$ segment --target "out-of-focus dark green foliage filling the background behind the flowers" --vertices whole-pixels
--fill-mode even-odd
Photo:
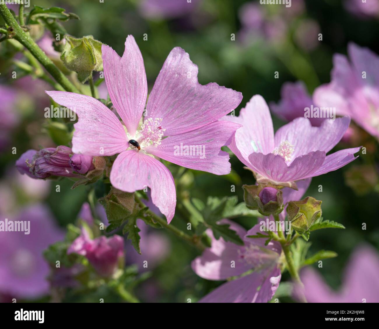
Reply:
[[[246,32],[241,17],[247,12],[244,7],[247,2],[243,0],[193,0],[193,9],[170,17],[148,17],[143,2],[136,0],[105,0],[104,3],[94,0],[54,3],[34,0],[31,5],[45,8],[54,5],[65,8],[67,12],[74,12],[80,20],[63,23],[69,34],[76,37],[93,35],[95,39],[113,47],[119,55],[124,51],[126,36],[133,34],[144,58],[149,91],[169,51],[176,46],[184,48],[191,60],[199,66],[201,84],[216,82],[242,92],[243,100],[236,110],[237,115],[239,109],[255,94],[262,95],[268,103],[278,101],[280,88],[286,81],[302,80],[310,93],[319,84],[329,82],[333,54],[346,54],[350,41],[379,52],[377,19],[360,19],[352,15],[340,0],[307,0],[301,2],[304,4],[302,10],[288,14],[296,8],[296,2],[293,0],[292,8],[288,9],[283,6],[261,5],[261,14],[274,31],[271,34],[257,33],[258,35]],[[259,4],[259,1],[255,3]],[[277,25],[277,22],[282,24]],[[311,31],[307,30],[309,22],[313,28]],[[147,41],[143,39],[145,33]],[[318,33],[322,33],[322,41],[317,40]],[[232,34],[235,35],[235,41],[231,40]],[[316,38],[316,42],[307,43],[312,38]],[[11,168],[18,156],[11,153],[11,148],[16,147],[19,155],[30,148],[38,149],[55,144],[43,129],[41,131],[44,123],[43,109],[50,102],[43,93],[44,88],[36,91],[32,80],[25,86],[17,86],[16,81],[11,79],[13,69],[8,66],[2,45],[0,55],[0,82],[20,91],[15,110],[20,112],[22,119],[12,132],[10,144],[2,150],[0,161],[2,193],[11,193],[12,201],[7,207],[11,206],[17,211],[25,204],[34,202],[34,198],[33,193],[25,195],[17,187],[17,174]],[[275,71],[279,72],[278,79],[274,78]],[[33,92],[28,87],[33,87]],[[273,121],[275,129],[284,124],[274,115]],[[367,145],[363,146],[368,149],[366,156],[360,156],[336,172],[313,178],[306,193],[323,201],[325,219],[337,221],[346,227],[345,230],[313,232],[310,239],[311,253],[319,249],[338,253],[337,258],[324,260],[323,269],[319,271],[333,288],[339,287],[346,260],[356,246],[370,243],[379,249],[378,194],[369,190],[368,193],[357,195],[346,185],[344,176],[346,171],[358,164],[377,163],[377,142],[371,137],[365,141]],[[355,146],[359,145],[351,147]],[[337,149],[338,147],[337,145]],[[243,164],[235,156],[231,157],[231,163],[232,173],[227,176],[193,170],[180,172],[182,176],[176,181],[177,214],[184,220],[176,216],[173,225],[185,229],[188,211],[183,207],[182,201],[188,198],[206,200],[208,196],[237,195],[239,201],[243,201],[241,186],[254,184],[254,177],[250,171],[243,169]],[[179,167],[173,164],[168,166],[175,177]],[[60,193],[55,192],[54,183],[50,184],[50,193],[45,194],[45,202],[59,225],[64,227],[68,223],[74,223],[91,186],[70,190],[72,182],[68,179],[61,180],[59,184]],[[231,192],[231,185],[235,185],[235,192]],[[319,192],[320,185],[322,192]],[[251,218],[237,218],[236,221],[246,228],[255,224]],[[366,230],[362,230],[362,223],[366,223]],[[137,288],[136,295],[141,301],[186,302],[187,298],[191,298],[194,302],[219,285],[220,282],[199,278],[191,270],[190,263],[197,256],[196,249],[171,233],[164,234],[170,239],[171,251],[153,270],[151,278]],[[289,279],[287,275],[284,278]],[[96,292],[96,295],[104,294],[102,290]],[[78,297],[70,294],[66,297],[67,301],[90,301],[91,298],[91,295]],[[116,295],[110,295],[109,298],[119,300]],[[283,298],[283,301],[290,300]]]

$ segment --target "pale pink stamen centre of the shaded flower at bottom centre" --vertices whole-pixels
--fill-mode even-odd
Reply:
[[[238,250],[240,259],[253,268],[271,266],[279,257],[275,251],[254,244],[244,246]]]

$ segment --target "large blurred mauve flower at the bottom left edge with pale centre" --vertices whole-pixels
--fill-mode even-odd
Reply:
[[[8,218],[2,214],[1,220]],[[49,265],[42,252],[64,237],[42,204],[23,209],[16,221],[30,221],[29,234],[0,231],[0,291],[15,298],[37,298],[49,291]]]

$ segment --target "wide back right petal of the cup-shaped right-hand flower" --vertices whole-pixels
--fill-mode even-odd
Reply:
[[[342,117],[334,121],[324,120],[321,126],[312,127],[308,119],[297,118],[277,130],[275,146],[288,141],[294,148],[292,159],[312,151],[327,153],[341,140],[349,124],[350,118]]]

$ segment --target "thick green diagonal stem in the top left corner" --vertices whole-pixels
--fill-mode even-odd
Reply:
[[[8,24],[13,28],[15,33],[14,39],[20,42],[27,48],[31,54],[42,64],[42,66],[49,72],[53,78],[67,91],[79,92],[79,90],[66,78],[58,67],[48,58],[41,48],[34,42],[28,33],[25,33],[5,4],[0,5],[0,14]]]

